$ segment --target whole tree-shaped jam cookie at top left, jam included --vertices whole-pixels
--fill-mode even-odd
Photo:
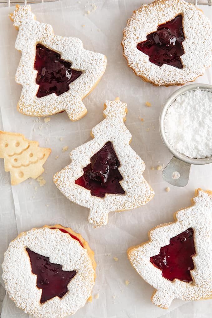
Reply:
[[[51,25],[36,21],[30,5],[17,5],[10,18],[22,53],[15,77],[23,86],[18,111],[46,116],[65,110],[72,121],[83,117],[82,99],[105,72],[106,57],[85,50],[79,38],[54,35]]]

